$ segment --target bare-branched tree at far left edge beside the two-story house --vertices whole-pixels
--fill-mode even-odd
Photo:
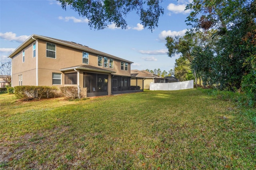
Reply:
[[[2,75],[2,79],[6,82],[9,86],[12,82],[12,61],[6,61],[5,63],[0,64],[0,75]]]

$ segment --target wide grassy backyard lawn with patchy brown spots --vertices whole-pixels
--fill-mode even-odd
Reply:
[[[0,169],[253,170],[256,126],[245,113],[202,89],[80,101],[2,94]]]

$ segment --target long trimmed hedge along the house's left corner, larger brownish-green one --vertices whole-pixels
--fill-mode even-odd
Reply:
[[[19,99],[46,99],[55,97],[57,87],[50,86],[15,86],[14,94]]]

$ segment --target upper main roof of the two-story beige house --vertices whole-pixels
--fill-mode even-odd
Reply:
[[[66,46],[73,47],[73,48],[76,48],[76,49],[80,49],[80,50],[83,50],[83,51],[95,53],[95,54],[98,54],[98,55],[103,55],[105,57],[110,57],[110,58],[113,58],[113,59],[118,59],[118,60],[121,60],[121,61],[125,61],[127,63],[133,63],[132,61],[122,59],[120,57],[116,57],[114,55],[110,55],[108,53],[98,51],[96,49],[89,48],[88,46],[85,46],[85,45],[82,45],[82,44],[79,44],[79,43],[68,42],[68,41],[59,40],[59,39],[50,38],[50,37],[45,37],[45,36],[39,36],[39,35],[36,35],[36,34],[33,34],[32,36],[30,36],[25,42],[23,42],[20,46],[18,46],[12,53],[10,53],[10,55],[8,55],[8,57],[9,58],[14,57],[17,53],[19,53],[21,50],[23,50],[24,47],[28,46],[30,43],[34,42],[37,39],[46,40],[46,41],[49,41],[49,42],[66,45]]]

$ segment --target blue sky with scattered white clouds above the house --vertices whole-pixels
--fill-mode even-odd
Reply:
[[[164,0],[164,15],[153,32],[140,24],[135,13],[127,16],[128,28],[110,24],[104,30],[90,29],[87,18],[55,0],[0,0],[0,62],[32,34],[72,41],[134,62],[131,69],[174,68],[175,57],[168,57],[164,38],[183,36],[184,11],[191,0]]]

